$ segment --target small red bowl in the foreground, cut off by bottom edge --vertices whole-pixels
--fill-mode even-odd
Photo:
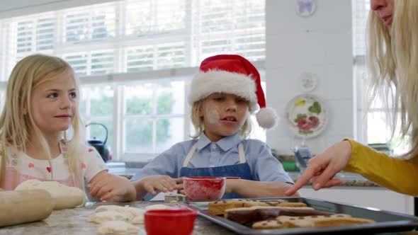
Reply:
[[[187,209],[147,210],[144,214],[147,235],[190,235],[198,212]]]

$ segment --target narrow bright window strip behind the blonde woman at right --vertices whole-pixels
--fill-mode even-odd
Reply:
[[[400,127],[395,128],[395,136],[390,141],[390,123],[386,118],[386,108],[377,99],[368,107],[366,93],[368,72],[365,65],[366,54],[366,22],[370,10],[370,0],[353,0],[353,52],[354,52],[354,80],[358,93],[358,139],[366,144],[388,143],[394,154],[400,155],[409,148],[407,141],[400,139]]]

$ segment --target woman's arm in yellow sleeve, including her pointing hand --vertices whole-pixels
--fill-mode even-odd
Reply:
[[[286,195],[312,180],[312,188],[341,184],[334,178],[339,171],[359,173],[368,180],[398,193],[417,196],[418,163],[390,157],[351,139],[337,142],[308,161],[308,167]]]

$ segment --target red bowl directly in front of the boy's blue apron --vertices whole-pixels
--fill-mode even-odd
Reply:
[[[190,201],[219,200],[225,193],[225,177],[185,177],[184,194]]]

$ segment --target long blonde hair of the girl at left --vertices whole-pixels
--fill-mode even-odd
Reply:
[[[23,58],[11,72],[7,82],[6,103],[0,116],[0,139],[1,139],[1,168],[0,183],[6,180],[4,172],[6,168],[6,147],[10,146],[16,151],[26,151],[30,135],[40,139],[43,149],[47,153],[47,159],[51,167],[50,146],[47,144],[42,132],[35,125],[33,114],[30,111],[30,96],[33,89],[39,84],[54,79],[60,74],[69,73],[74,79],[77,90],[77,104],[79,103],[79,81],[74,76],[72,67],[63,59],[47,55],[30,55]],[[24,111],[26,110],[26,114]],[[69,173],[77,187],[84,190],[84,179],[79,164],[79,149],[84,125],[77,112],[72,121],[73,137],[67,139],[67,131],[60,133],[62,141],[67,145],[67,156],[64,158]],[[32,136],[31,136],[32,137]],[[60,139],[57,139],[57,142]],[[52,177],[52,176],[51,176]]]

